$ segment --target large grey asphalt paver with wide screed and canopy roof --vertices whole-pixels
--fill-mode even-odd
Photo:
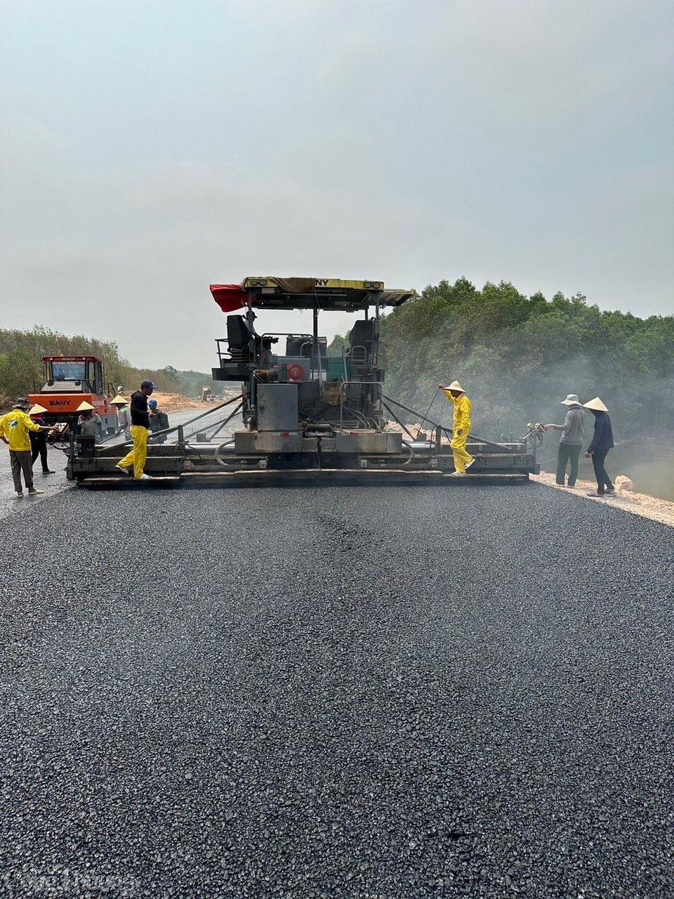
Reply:
[[[213,378],[236,384],[235,396],[165,432],[166,442],[151,435],[145,470],[155,482],[447,482],[454,471],[451,429],[426,421],[423,432],[413,433],[405,421],[420,422],[421,414],[384,391],[380,317],[412,291],[387,290],[375,280],[270,277],[210,290],[226,313]],[[310,312],[311,332],[258,329],[258,317],[269,310]],[[339,352],[329,353],[320,334],[326,311],[356,316]],[[83,456],[74,444],[68,476],[92,486],[129,481],[114,469],[127,449],[103,444]],[[475,458],[470,473],[451,480],[511,482],[538,470],[527,441],[472,434],[467,449]]]

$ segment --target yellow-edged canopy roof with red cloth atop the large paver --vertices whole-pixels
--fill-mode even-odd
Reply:
[[[337,278],[245,278],[241,284],[211,284],[210,292],[223,312],[255,309],[324,309],[357,311],[379,304],[401,306],[412,290],[386,290],[380,280]]]

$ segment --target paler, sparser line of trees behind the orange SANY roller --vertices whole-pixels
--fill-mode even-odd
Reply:
[[[200,371],[179,371],[171,365],[164,369],[137,369],[120,355],[114,341],[84,334],[60,334],[40,326],[31,331],[0,328],[0,409],[6,409],[14,397],[32,393],[33,385],[41,386],[42,357],[60,353],[102,359],[106,382],[113,389],[121,384],[129,392],[144,378],[155,381],[161,390],[185,396],[199,396],[206,386],[214,393],[217,389],[210,375]]]

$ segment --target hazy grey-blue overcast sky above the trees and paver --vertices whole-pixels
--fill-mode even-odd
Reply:
[[[674,312],[670,0],[0,10],[4,327],[208,370],[254,274]]]

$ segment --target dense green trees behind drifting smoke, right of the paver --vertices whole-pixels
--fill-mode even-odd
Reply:
[[[581,294],[547,300],[460,278],[384,316],[381,335],[386,395],[425,413],[438,384],[457,378],[485,437],[561,423],[570,393],[581,402],[601,396],[621,437],[674,431],[674,316],[642,319],[602,311]],[[430,417],[443,414],[448,422],[440,395]]]

